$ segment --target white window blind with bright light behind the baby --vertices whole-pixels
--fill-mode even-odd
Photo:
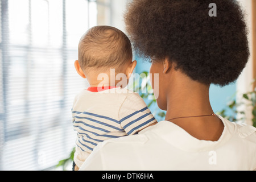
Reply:
[[[88,85],[73,63],[97,1],[1,0],[0,10],[0,170],[47,169],[75,146],[73,98]]]

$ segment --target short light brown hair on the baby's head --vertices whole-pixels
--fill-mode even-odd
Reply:
[[[129,38],[117,28],[95,26],[79,42],[79,64],[87,68],[115,68],[133,59]]]

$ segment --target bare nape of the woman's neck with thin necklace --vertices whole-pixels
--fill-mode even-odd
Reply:
[[[170,85],[167,93],[166,120],[183,128],[197,139],[216,141],[220,138],[224,125],[213,116],[210,106],[209,86],[190,79]],[[205,117],[195,117],[209,115]],[[180,118],[188,117],[188,118]],[[178,118],[178,119],[173,119]]]

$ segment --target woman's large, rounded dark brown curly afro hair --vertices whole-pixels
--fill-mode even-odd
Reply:
[[[209,16],[212,2],[217,16]],[[234,0],[133,0],[125,24],[140,56],[174,61],[203,84],[236,81],[250,56],[245,13]]]

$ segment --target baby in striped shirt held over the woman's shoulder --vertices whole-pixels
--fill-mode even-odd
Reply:
[[[72,107],[77,131],[75,170],[99,142],[137,134],[156,123],[139,94],[119,84],[117,76],[121,74],[127,83],[136,64],[129,38],[117,28],[96,26],[80,39],[75,68],[90,87],[75,97]]]

